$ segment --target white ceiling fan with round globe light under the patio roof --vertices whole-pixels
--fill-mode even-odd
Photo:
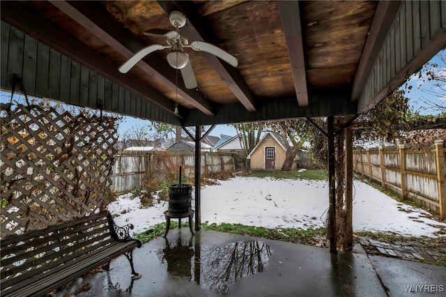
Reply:
[[[123,63],[123,65],[118,68],[119,72],[128,73],[139,60],[152,52],[171,49],[171,52],[167,54],[167,62],[171,67],[181,71],[186,89],[195,89],[198,86],[197,79],[195,79],[189,56],[183,49],[192,48],[192,50],[208,52],[223,61],[226,61],[226,63],[229,63],[233,67],[238,66],[238,61],[235,56],[225,52],[215,45],[204,43],[203,41],[194,41],[189,45],[189,40],[184,36],[181,36],[179,30],[186,24],[186,17],[183,13],[176,10],[172,11],[169,15],[169,21],[175,27],[175,30],[151,29],[144,32],[144,35],[147,36],[165,36],[167,38],[167,45],[149,45],[148,47],[144,47],[128,59],[128,61]]]

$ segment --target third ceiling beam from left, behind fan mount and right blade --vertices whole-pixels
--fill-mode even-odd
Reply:
[[[201,17],[197,8],[195,8],[192,1],[157,1],[161,8],[169,15],[172,10],[178,10],[183,13],[187,19],[187,22],[181,31],[185,33],[185,36],[192,41],[204,41],[217,45],[217,40],[213,37],[214,34],[210,32],[210,26],[204,24],[206,20]],[[249,112],[255,112],[256,107],[254,105],[254,95],[247,86],[245,80],[240,75],[236,68],[233,68],[229,64],[221,61],[213,54],[201,52],[204,59],[209,63],[210,67],[219,75],[223,82],[228,86],[232,93],[238,98],[238,100],[245,106]]]

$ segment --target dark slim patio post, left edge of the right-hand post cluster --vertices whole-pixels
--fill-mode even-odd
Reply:
[[[337,252],[337,228],[336,228],[336,188],[334,185],[335,158],[334,158],[334,116],[327,119],[328,135],[328,186],[330,189],[328,208],[328,236],[330,237],[330,252]]]

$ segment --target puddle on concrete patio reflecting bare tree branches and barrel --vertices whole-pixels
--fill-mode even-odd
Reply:
[[[162,262],[172,277],[190,281],[219,294],[226,294],[242,277],[261,273],[270,261],[271,249],[262,241],[238,241],[217,247],[201,247],[178,239],[163,249]]]

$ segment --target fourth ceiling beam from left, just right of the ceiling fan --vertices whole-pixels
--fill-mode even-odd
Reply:
[[[277,1],[284,29],[286,47],[290,59],[291,73],[298,104],[308,106],[307,77],[305,73],[305,54],[300,24],[299,1]]]

